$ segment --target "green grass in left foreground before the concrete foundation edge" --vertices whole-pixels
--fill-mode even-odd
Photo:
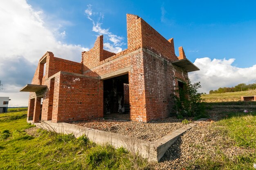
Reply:
[[[81,169],[146,169],[147,161],[124,148],[97,145],[86,137],[63,135],[46,130],[25,129],[26,111],[1,114],[0,169],[81,170]]]

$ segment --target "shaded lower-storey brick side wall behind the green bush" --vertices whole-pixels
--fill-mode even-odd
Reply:
[[[177,77],[186,80],[188,74],[166,60],[144,53],[147,121],[169,117]]]

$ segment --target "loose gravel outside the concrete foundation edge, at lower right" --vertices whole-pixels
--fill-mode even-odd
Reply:
[[[219,111],[222,111],[219,110]],[[236,110],[241,112],[241,110]],[[213,130],[213,123],[218,119],[226,117],[212,111],[211,119],[202,121],[190,130],[186,131],[175,143],[166,151],[159,163],[153,167],[155,170],[186,170],[185,168],[197,159],[214,159],[216,154],[222,152],[233,159],[236,155],[256,152],[254,149],[232,146],[228,137],[222,132]],[[192,166],[190,169],[198,169]]]

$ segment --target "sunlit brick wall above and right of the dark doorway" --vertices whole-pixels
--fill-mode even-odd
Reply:
[[[105,62],[104,66],[92,68],[84,73],[97,77],[106,73],[112,73],[121,68],[131,67],[129,71],[129,91],[130,91],[130,119],[134,121],[146,121],[145,93],[144,93],[144,73],[142,49],[136,53],[120,57],[119,60]]]

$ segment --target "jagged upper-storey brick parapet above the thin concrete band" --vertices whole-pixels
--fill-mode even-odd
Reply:
[[[166,40],[137,15],[127,14],[126,17],[128,48],[117,54],[103,50],[103,35],[99,36],[94,43],[94,47],[82,53],[83,72],[115,60],[137,49],[141,49],[142,47],[150,49],[166,60],[178,60],[174,51],[173,39]]]

